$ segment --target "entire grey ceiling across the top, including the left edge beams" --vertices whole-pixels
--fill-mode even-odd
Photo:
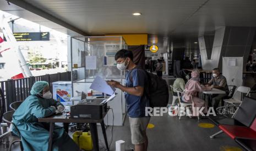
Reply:
[[[256,0],[12,1],[25,1],[88,34],[148,33],[169,39],[197,39],[199,34],[214,34],[223,26],[256,27]],[[0,9],[64,29],[5,1],[0,2]],[[142,15],[135,17],[134,12]]]

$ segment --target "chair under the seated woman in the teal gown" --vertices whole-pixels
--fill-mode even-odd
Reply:
[[[9,111],[9,112],[6,112],[3,114],[3,121],[5,121],[10,129],[10,125],[12,124],[14,127],[16,127],[15,124],[12,123],[12,119],[13,119],[13,114],[14,114],[15,111]],[[17,129],[17,127],[16,127]],[[18,133],[19,133],[19,130],[17,129]],[[12,137],[13,137],[13,140],[12,142],[9,144],[9,148],[8,148],[8,151],[10,151],[12,149],[12,145],[16,142],[20,142],[20,149],[23,150],[23,146],[22,146],[22,143],[21,143],[21,139],[20,137],[14,135],[12,133]]]

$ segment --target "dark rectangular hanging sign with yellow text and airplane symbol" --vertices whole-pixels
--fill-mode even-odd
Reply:
[[[13,35],[18,42],[50,40],[50,32],[16,32]]]

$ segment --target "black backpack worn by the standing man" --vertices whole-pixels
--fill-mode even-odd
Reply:
[[[141,67],[135,67],[143,70]],[[157,77],[157,75],[146,72],[148,83],[145,84],[144,95],[149,98],[150,107],[166,107],[169,101],[168,85],[166,80]],[[132,74],[130,75],[132,80]]]

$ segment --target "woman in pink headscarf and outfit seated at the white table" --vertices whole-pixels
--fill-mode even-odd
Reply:
[[[187,84],[185,85],[185,94],[182,95],[182,101],[186,103],[192,103],[193,115],[195,115],[194,111],[196,107],[199,107],[199,108],[204,107],[203,113],[207,113],[208,109],[207,109],[206,103],[204,100],[198,97],[198,92],[209,91],[212,89],[210,86],[201,87],[199,81],[200,81],[199,71],[193,70],[191,73],[191,78],[188,80]]]

